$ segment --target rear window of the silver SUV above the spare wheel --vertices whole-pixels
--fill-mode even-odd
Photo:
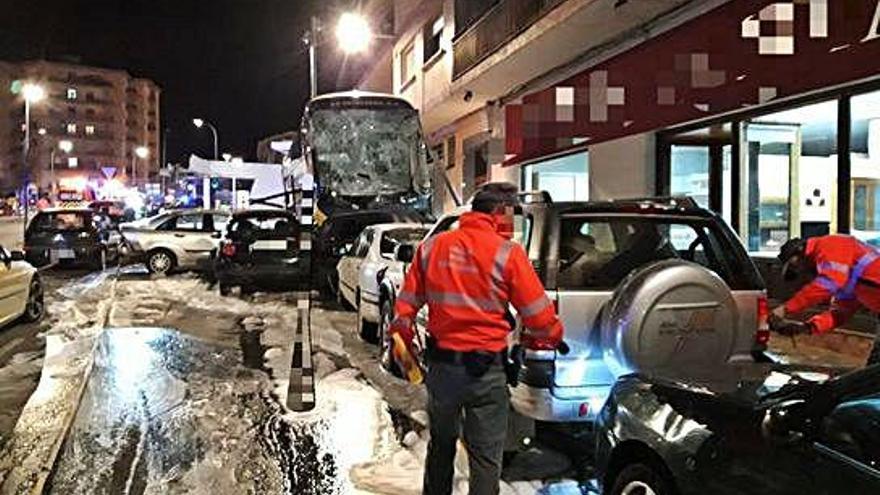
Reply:
[[[731,289],[761,289],[742,246],[710,220],[578,216],[560,222],[560,288],[614,289],[633,270],[677,258],[712,270]]]

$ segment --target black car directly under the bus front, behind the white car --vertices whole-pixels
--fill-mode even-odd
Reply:
[[[312,276],[316,287],[338,293],[336,265],[365,227],[379,223],[424,223],[425,217],[408,210],[358,210],[336,213],[315,231]]]

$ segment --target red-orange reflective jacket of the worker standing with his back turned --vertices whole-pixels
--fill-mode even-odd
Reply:
[[[442,349],[506,348],[508,303],[542,341],[555,345],[562,338],[562,325],[528,256],[496,232],[488,214],[465,213],[458,229],[438,234],[416,250],[394,311],[412,324],[426,303],[428,332]]]

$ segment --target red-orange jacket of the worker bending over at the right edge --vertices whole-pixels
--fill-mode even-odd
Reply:
[[[800,313],[832,302],[831,309],[810,319],[817,332],[844,323],[862,306],[880,312],[880,253],[846,235],[807,240],[807,258],[817,276],[785,303],[787,313]]]

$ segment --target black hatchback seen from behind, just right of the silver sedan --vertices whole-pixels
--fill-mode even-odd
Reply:
[[[307,290],[309,260],[299,249],[299,220],[283,210],[236,213],[214,256],[220,293],[239,286]]]

